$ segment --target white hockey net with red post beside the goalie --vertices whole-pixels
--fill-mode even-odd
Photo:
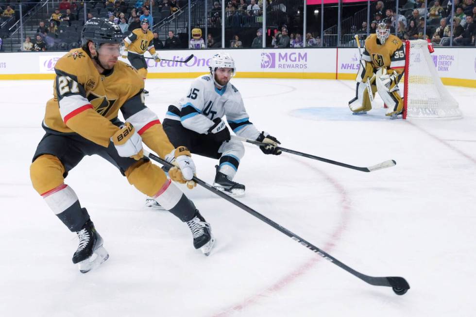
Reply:
[[[458,118],[458,102],[443,85],[425,40],[406,41],[404,113],[406,117]]]

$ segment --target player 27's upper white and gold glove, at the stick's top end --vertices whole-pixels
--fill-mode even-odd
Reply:
[[[142,138],[129,122],[124,123],[119,131],[111,137],[118,154],[122,157],[132,157],[139,160],[142,155]]]

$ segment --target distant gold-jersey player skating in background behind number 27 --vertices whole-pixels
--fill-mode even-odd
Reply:
[[[122,55],[127,58],[132,67],[136,68],[140,76],[147,78],[147,62],[144,53],[149,51],[155,62],[160,62],[159,54],[153,47],[153,33],[149,30],[149,20],[147,18],[140,22],[140,29],[133,30],[132,33],[124,39],[125,50]],[[144,95],[149,96],[149,92],[144,90]]]

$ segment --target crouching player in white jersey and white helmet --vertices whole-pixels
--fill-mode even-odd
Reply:
[[[210,73],[195,79],[187,96],[169,106],[163,126],[172,144],[185,145],[192,153],[220,159],[214,186],[233,196],[244,195],[245,186],[233,182],[244,155],[240,141],[231,140],[225,121],[238,136],[269,145],[265,154],[281,154],[280,142],[269,133],[259,132],[246,113],[238,89],[230,83],[236,73],[235,61],[227,53],[215,54]]]

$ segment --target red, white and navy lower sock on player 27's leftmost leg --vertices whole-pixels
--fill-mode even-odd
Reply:
[[[67,184],[41,194],[50,206],[53,213],[68,227],[71,232],[80,231],[89,220],[89,214],[85,208],[81,208],[78,196]]]

